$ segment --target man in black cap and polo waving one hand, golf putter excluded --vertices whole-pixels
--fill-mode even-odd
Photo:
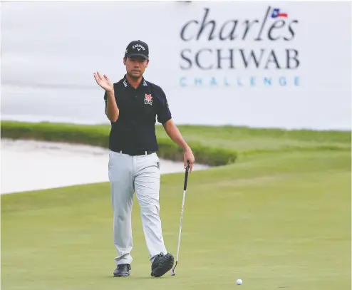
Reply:
[[[143,73],[149,64],[149,48],[143,41],[128,44],[123,64],[125,76],[112,83],[108,76],[94,73],[105,90],[105,114],[111,123],[108,176],[113,205],[113,237],[118,252],[114,276],[129,276],[133,258],[131,212],[133,194],[140,204],[145,242],[150,254],[151,276],[160,277],[174,264],[162,237],[160,221],[160,160],[157,156],[156,120],[184,150],[184,163],[195,162],[191,148],[173,123],[167,98],[160,86],[146,81]]]

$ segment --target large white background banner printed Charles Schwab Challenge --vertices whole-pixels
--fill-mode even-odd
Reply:
[[[108,123],[130,41],[178,124],[351,130],[351,2],[3,2],[3,119]]]

